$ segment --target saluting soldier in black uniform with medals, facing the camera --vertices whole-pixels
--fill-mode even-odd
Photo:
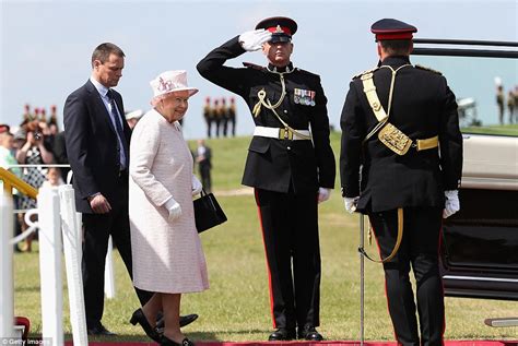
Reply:
[[[296,29],[289,17],[266,19],[255,31],[212,50],[197,67],[203,77],[240,95],[256,124],[243,183],[255,188],[261,218],[276,329],[270,341],[322,339],[316,330],[320,323],[317,201],[329,199],[335,165],[320,77],[294,68],[290,60]],[[227,59],[261,48],[268,67],[224,65]]]

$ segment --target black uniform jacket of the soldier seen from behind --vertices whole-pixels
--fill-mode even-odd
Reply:
[[[408,57],[386,58],[393,69],[410,63]],[[386,111],[391,71],[374,72],[376,92]],[[405,206],[444,206],[444,191],[458,189],[462,171],[462,135],[457,103],[440,73],[416,67],[398,71],[389,122],[412,140],[439,138],[439,148],[400,156],[379,140],[378,133],[362,143],[378,123],[360,77],[353,79],[340,124],[342,194],[360,195],[358,211],[380,212]],[[362,179],[360,179],[360,167]],[[361,181],[361,183],[360,183]]]

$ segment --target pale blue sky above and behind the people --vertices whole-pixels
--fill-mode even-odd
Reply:
[[[292,60],[320,74],[329,99],[331,123],[340,112],[351,76],[374,67],[376,46],[370,24],[396,17],[419,28],[414,37],[518,40],[517,1],[15,1],[1,0],[0,122],[17,124],[24,104],[58,106],[60,121],[68,94],[91,73],[92,50],[113,41],[126,53],[126,68],[117,90],[127,110],[150,108],[149,81],[166,70],[187,70],[200,93],[190,100],[185,134],[202,138],[201,108],[205,96],[232,94],[199,76],[197,62],[211,49],[252,29],[267,16],[285,15],[298,23]],[[264,64],[260,52],[248,52],[228,62]],[[414,58],[414,62],[419,59]],[[456,73],[451,64],[424,60]],[[469,68],[464,63],[461,68]],[[473,68],[473,80],[451,81],[457,96],[473,96],[470,86],[485,85],[486,108],[493,111],[494,76],[504,85],[518,84],[517,63],[506,61],[490,69]],[[445,71],[446,70],[446,71]],[[483,75],[483,77],[481,77]],[[454,79],[455,80],[455,79]],[[457,90],[456,90],[457,87]],[[466,94],[466,95],[459,95]],[[490,98],[491,96],[491,98]],[[250,134],[252,121],[238,102],[238,134]],[[487,111],[486,111],[487,112]],[[491,121],[484,121],[491,122]]]

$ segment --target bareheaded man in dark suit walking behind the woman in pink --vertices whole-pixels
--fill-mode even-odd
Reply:
[[[83,290],[86,326],[92,335],[113,335],[101,323],[104,269],[111,235],[132,275],[128,218],[128,165],[131,130],[125,121],[122,97],[111,87],[122,76],[125,53],[114,44],[97,46],[92,75],[64,104],[67,156],[73,171],[75,206],[83,214]],[[150,293],[136,288],[144,305]],[[188,317],[188,323],[196,317]],[[185,325],[184,321],[184,325]]]

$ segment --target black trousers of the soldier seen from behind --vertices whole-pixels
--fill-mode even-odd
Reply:
[[[443,208],[405,207],[403,238],[397,255],[384,263],[386,294],[398,344],[443,345],[445,307],[438,267]],[[388,256],[398,234],[397,210],[370,213],[370,224],[382,258]],[[416,282],[417,319],[410,269]],[[420,334],[421,332],[421,342]]]

